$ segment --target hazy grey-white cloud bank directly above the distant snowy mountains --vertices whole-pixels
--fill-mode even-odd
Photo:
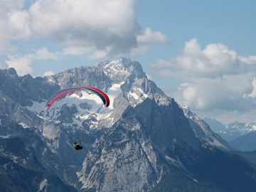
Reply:
[[[203,78],[183,83],[174,98],[201,117],[223,123],[255,122],[256,103],[243,97],[251,90],[252,75],[228,75],[223,79]]]

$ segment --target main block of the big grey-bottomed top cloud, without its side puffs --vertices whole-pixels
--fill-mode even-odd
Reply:
[[[137,43],[135,6],[135,0],[38,0],[29,9],[31,30],[66,46],[122,53]]]

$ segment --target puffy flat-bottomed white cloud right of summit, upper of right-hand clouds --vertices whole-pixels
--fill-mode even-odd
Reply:
[[[221,43],[209,44],[202,50],[194,38],[186,43],[181,55],[171,60],[158,60],[151,67],[164,76],[221,78],[256,70],[255,57],[241,57]]]

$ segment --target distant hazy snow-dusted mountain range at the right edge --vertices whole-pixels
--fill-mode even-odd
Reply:
[[[212,118],[205,118],[204,120],[210,125],[210,129],[223,137],[227,142],[231,142],[244,134],[256,130],[256,124],[253,123],[233,122],[224,125]]]

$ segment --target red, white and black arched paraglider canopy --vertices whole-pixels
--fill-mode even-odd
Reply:
[[[68,89],[64,89],[56,92],[53,96],[50,97],[50,99],[46,103],[46,109],[50,110],[50,107],[53,105],[53,103],[56,100],[60,99],[61,97],[64,97],[69,93],[80,91],[80,90],[90,90],[91,92],[95,93],[98,97],[100,97],[105,107],[110,106],[110,98],[107,96],[107,94],[104,91],[98,89],[97,87],[84,85],[81,87],[73,87],[73,88],[68,88]]]

